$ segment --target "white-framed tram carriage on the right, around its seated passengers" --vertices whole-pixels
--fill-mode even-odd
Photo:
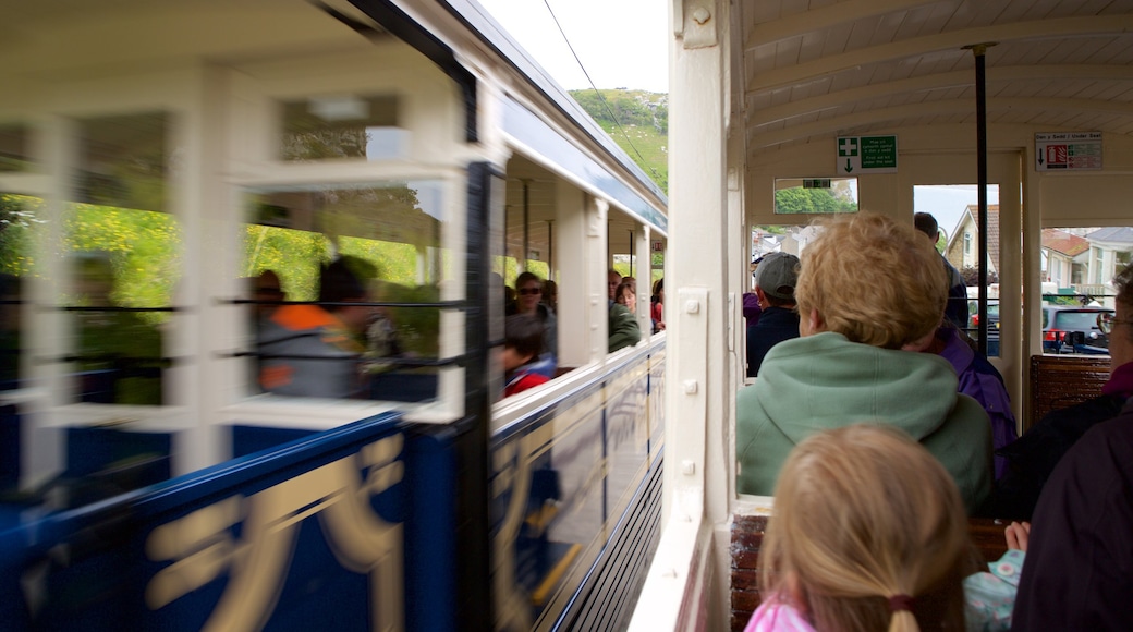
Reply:
[[[740,531],[774,498],[735,490],[741,297],[753,255],[804,249],[821,208],[783,203],[823,194],[912,222],[942,217],[927,193],[969,190],[946,208],[963,220],[940,222],[959,247],[946,254],[987,265],[969,283],[985,316],[971,331],[997,342],[1024,430],[1065,386],[1037,367],[1081,351],[1045,344],[1059,336],[1045,315],[1113,307],[1107,283],[1131,261],[1133,3],[676,0],[671,25],[666,410],[680,424],[631,630],[742,630],[758,537]]]

